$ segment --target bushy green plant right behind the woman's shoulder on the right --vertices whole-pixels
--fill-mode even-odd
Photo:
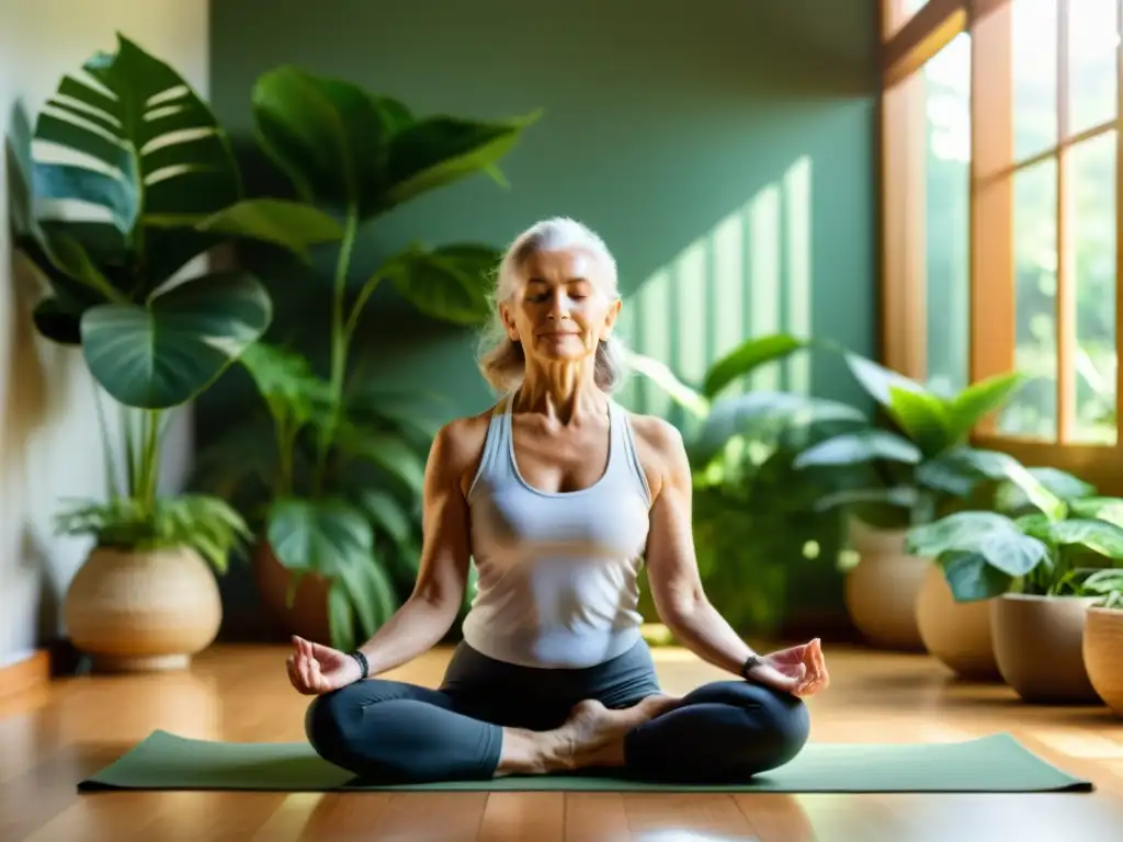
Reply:
[[[750,338],[714,361],[697,387],[660,360],[634,353],[629,358],[634,372],[685,410],[699,569],[711,600],[742,633],[775,632],[791,614],[785,603],[793,592],[807,591],[794,566],[818,564],[813,559],[841,546],[841,519],[814,506],[839,491],[840,473],[797,470],[794,460],[831,436],[867,429],[868,419],[822,397],[732,391],[761,367],[811,346],[785,333]]]

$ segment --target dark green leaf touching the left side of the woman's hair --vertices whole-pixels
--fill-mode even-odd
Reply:
[[[414,245],[375,273],[426,315],[454,324],[478,324],[491,315],[487,293],[499,253],[471,242],[428,249]]]

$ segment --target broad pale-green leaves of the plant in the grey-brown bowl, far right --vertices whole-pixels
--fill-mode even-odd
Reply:
[[[1113,568],[1123,562],[1123,500],[1047,493],[1030,509],[955,512],[912,528],[906,546],[941,567],[960,602],[1007,592],[1112,598],[1120,573]]]

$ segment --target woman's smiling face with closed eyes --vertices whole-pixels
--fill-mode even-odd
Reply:
[[[604,268],[584,249],[537,251],[522,265],[522,283],[502,305],[508,336],[542,361],[576,361],[596,353],[620,312],[604,293]]]

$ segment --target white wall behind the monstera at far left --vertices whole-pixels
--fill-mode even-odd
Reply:
[[[204,97],[209,89],[208,0],[0,0],[0,134],[13,108],[28,121],[58,77],[120,31],[168,62]],[[104,487],[93,384],[76,350],[42,341],[30,323],[34,278],[17,263],[0,157],[0,666],[61,630],[57,604],[89,548],[56,537],[60,498]],[[189,467],[190,427],[168,430],[165,487]]]

